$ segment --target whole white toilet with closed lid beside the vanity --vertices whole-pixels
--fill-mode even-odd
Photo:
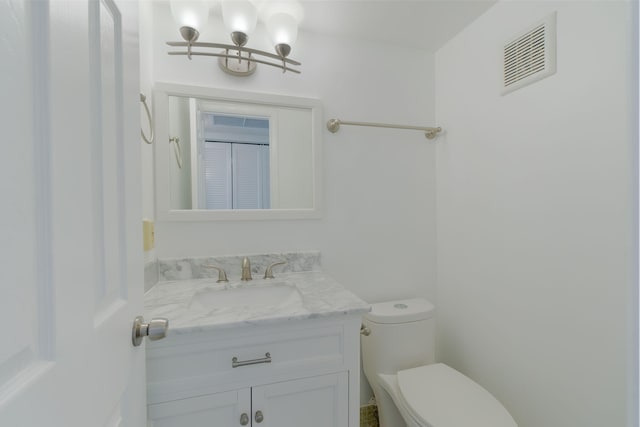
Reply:
[[[380,427],[517,427],[491,393],[435,363],[434,311],[413,298],[372,304],[363,319],[363,370]]]

